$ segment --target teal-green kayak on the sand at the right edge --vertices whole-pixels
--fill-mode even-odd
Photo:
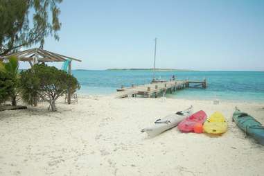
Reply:
[[[264,127],[260,122],[256,121],[256,119],[249,114],[240,112],[237,107],[233,114],[233,120],[241,130],[256,139],[261,145],[264,145]]]

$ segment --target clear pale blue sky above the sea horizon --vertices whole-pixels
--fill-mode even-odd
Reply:
[[[71,1],[59,5],[60,40],[44,49],[73,69],[264,71],[264,1]],[[58,67],[59,64],[57,64]]]

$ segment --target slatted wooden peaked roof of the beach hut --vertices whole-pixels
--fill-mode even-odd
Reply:
[[[71,58],[66,55],[61,55],[58,53],[53,53],[51,51],[46,51],[44,49],[27,49],[25,51],[19,51],[17,53],[12,53],[10,55],[2,55],[0,56],[0,60],[8,60],[10,56],[17,56],[19,61],[33,61],[35,62],[64,62],[67,59],[75,60],[78,62],[82,62],[82,60],[78,60],[76,58]]]

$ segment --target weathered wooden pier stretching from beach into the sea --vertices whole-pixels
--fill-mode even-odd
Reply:
[[[159,95],[170,93],[173,94],[173,91],[179,89],[184,89],[186,87],[193,88],[206,88],[206,80],[197,81],[197,80],[170,80],[170,81],[155,81],[147,85],[132,85],[131,87],[121,87],[117,89],[116,98],[125,98],[125,97],[136,97],[137,95],[151,98],[157,98]]]

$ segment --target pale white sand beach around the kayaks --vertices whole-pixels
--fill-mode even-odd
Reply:
[[[148,139],[140,130],[185,109],[228,119],[221,137],[173,128]],[[235,106],[264,123],[264,104],[88,96],[0,112],[0,175],[263,175],[264,147],[231,121]]]

